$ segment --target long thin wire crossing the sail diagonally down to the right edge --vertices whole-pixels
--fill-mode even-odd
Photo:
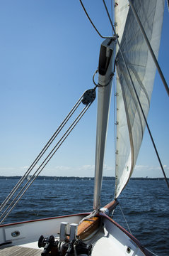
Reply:
[[[106,12],[107,12],[107,16],[108,16],[108,18],[109,18],[109,20],[110,20],[110,24],[111,24],[111,26],[112,26],[113,32],[114,32],[114,34],[115,34],[115,38],[116,38],[116,40],[117,40],[117,44],[118,44],[118,46],[119,46],[120,53],[121,53],[121,55],[122,55],[122,60],[124,61],[124,65],[125,65],[125,68],[127,69],[127,73],[128,73],[128,75],[129,75],[129,79],[130,79],[131,82],[132,82],[132,86],[133,86],[133,88],[134,88],[134,92],[135,92],[136,98],[137,98],[137,100],[138,100],[138,102],[139,102],[139,107],[140,107],[140,109],[141,109],[141,113],[143,114],[144,121],[145,121],[146,127],[147,127],[147,129],[148,129],[148,133],[149,133],[149,135],[150,135],[150,137],[151,137],[151,142],[152,142],[152,144],[153,144],[153,148],[154,148],[154,150],[156,151],[156,156],[157,156],[158,162],[159,162],[159,164],[160,164],[160,166],[161,166],[161,170],[162,170],[162,172],[163,172],[163,176],[164,176],[164,178],[165,178],[165,182],[167,183],[167,186],[168,186],[168,188],[169,188],[168,178],[167,178],[166,175],[165,175],[165,171],[164,171],[164,169],[163,169],[163,164],[161,163],[161,158],[160,158],[160,156],[159,156],[159,154],[158,154],[158,151],[157,151],[157,149],[156,149],[156,144],[155,144],[155,142],[154,142],[154,140],[153,140],[153,137],[152,137],[152,134],[151,134],[151,130],[150,130],[149,126],[148,126],[148,122],[147,122],[147,120],[146,120],[146,116],[145,116],[145,114],[144,114],[144,110],[143,110],[143,108],[142,108],[142,106],[141,106],[141,102],[140,102],[140,100],[139,100],[139,96],[138,96],[138,94],[137,94],[137,92],[136,92],[136,88],[135,88],[134,82],[133,82],[133,80],[132,80],[132,76],[131,76],[131,74],[130,74],[130,72],[129,72],[129,68],[127,67],[126,60],[125,60],[124,55],[123,55],[123,53],[122,53],[122,49],[121,49],[121,46],[120,46],[120,43],[119,43],[117,34],[116,34],[116,32],[115,32],[115,28],[114,28],[114,26],[113,26],[113,24],[112,24],[109,11],[107,10],[107,6],[106,6],[106,4],[105,4],[105,0],[103,0],[103,4],[104,4],[104,6],[105,6],[105,10],[106,10]]]

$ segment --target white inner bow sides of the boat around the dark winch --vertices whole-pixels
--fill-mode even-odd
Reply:
[[[11,247],[13,245],[39,249],[37,241],[40,238],[40,235],[44,235],[45,237],[54,235],[55,238],[59,239],[58,233],[61,222],[64,221],[69,224],[79,223],[85,215],[86,214],[67,215],[59,218],[47,218],[1,225],[0,243],[11,243],[0,246],[0,255],[4,255],[3,251],[6,250],[4,247]],[[100,228],[84,241],[93,245],[91,255],[151,255],[144,249],[144,247],[141,247],[136,238],[115,223],[114,220],[107,217],[104,213],[100,213],[99,215],[102,220]],[[20,235],[16,237],[11,235],[12,233],[17,232]],[[41,249],[43,250],[43,248]]]

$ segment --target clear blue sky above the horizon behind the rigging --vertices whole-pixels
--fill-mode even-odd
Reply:
[[[84,4],[100,33],[110,36],[102,1]],[[167,82],[168,23],[165,4],[159,63]],[[1,1],[0,38],[0,176],[22,175],[78,97],[93,87],[103,40],[78,0]],[[95,100],[42,175],[94,175],[96,105]],[[148,123],[167,176],[168,107],[168,96],[156,75]],[[115,176],[113,123],[112,104],[105,176]],[[162,176],[147,132],[133,176]]]

